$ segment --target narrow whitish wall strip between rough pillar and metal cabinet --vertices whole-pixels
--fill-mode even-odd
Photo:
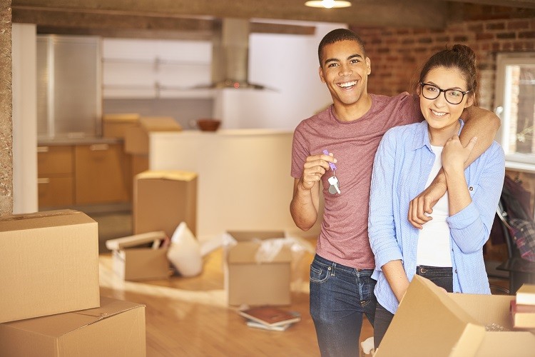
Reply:
[[[37,206],[36,26],[13,24],[13,213]]]

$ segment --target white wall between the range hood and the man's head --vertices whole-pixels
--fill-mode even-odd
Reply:
[[[332,103],[320,81],[317,46],[327,32],[346,24],[312,23],[314,36],[250,34],[249,81],[274,90],[220,89],[214,116],[225,129],[295,129]]]

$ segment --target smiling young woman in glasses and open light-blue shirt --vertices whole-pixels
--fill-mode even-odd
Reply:
[[[464,147],[462,111],[477,91],[475,54],[456,44],[434,54],[419,76],[425,121],[384,134],[374,159],[368,230],[375,256],[374,343],[387,331],[414,274],[446,291],[490,293],[483,246],[504,182],[504,151],[494,142],[465,169],[477,138]],[[440,170],[447,191],[421,229],[407,220],[411,200]]]

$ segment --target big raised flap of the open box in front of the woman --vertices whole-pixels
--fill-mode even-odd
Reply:
[[[473,356],[484,336],[484,326],[447,293],[414,276],[375,356]]]

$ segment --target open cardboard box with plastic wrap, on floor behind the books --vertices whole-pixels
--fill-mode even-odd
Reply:
[[[287,246],[271,261],[256,258],[262,241],[284,231],[228,231],[237,243],[225,245],[224,279],[229,305],[290,305],[292,252]]]

